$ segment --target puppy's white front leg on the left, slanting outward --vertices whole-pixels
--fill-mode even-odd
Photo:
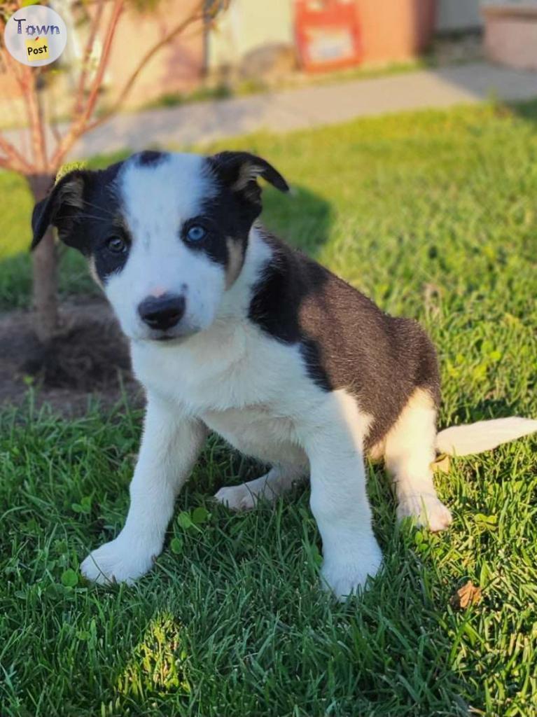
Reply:
[[[174,500],[189,477],[206,427],[176,406],[148,395],[140,455],[130,483],[130,508],[117,538],[93,551],[80,569],[99,583],[132,582],[161,553]]]

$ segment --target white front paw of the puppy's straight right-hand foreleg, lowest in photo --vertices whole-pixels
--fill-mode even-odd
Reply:
[[[366,543],[357,543],[351,549],[343,545],[331,554],[325,554],[321,575],[324,587],[331,589],[336,598],[343,602],[358,589],[363,589],[368,577],[374,577],[382,564],[382,553],[375,538]]]

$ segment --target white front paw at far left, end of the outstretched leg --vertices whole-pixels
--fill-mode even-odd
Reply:
[[[158,552],[136,550],[118,536],[90,553],[80,565],[80,571],[88,580],[101,585],[112,582],[132,584],[151,569]]]

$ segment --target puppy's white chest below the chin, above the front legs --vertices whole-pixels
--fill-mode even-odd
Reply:
[[[257,424],[293,414],[297,397],[312,392],[298,349],[265,338],[248,323],[219,323],[179,348],[135,344],[132,358],[136,376],[150,391],[200,417],[233,415],[233,424],[233,409],[250,412]]]

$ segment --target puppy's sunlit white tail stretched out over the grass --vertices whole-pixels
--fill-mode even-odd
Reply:
[[[537,431],[537,421],[512,416],[452,426],[437,434],[437,451],[447,455],[471,455]]]

